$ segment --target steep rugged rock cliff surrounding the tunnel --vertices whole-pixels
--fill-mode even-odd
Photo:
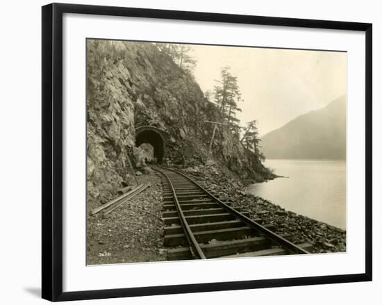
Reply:
[[[167,131],[172,160],[184,156],[194,165],[206,160],[213,131],[204,120],[222,120],[193,77],[154,44],[109,40],[87,42],[87,115],[88,208],[131,183],[126,156],[140,155],[139,126]],[[272,177],[224,127],[217,129],[212,158],[242,179]]]

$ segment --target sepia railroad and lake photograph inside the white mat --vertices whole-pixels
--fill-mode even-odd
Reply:
[[[347,52],[87,38],[86,173],[87,265],[347,252]]]

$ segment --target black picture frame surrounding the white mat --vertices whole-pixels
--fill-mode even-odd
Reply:
[[[63,14],[365,32],[365,273],[63,292]],[[50,301],[372,281],[372,24],[52,3],[42,7],[42,297]]]

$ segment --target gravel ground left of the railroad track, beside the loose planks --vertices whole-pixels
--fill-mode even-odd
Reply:
[[[150,187],[103,217],[88,215],[87,265],[166,261],[163,192],[154,173],[139,176]]]

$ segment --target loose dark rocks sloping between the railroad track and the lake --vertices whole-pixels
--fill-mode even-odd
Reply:
[[[240,212],[248,212],[251,219],[260,218],[265,224],[273,224],[278,234],[288,233],[292,242],[308,242],[313,245],[313,253],[346,252],[346,231],[313,220],[292,211],[285,211],[277,204],[256,195],[247,194],[244,185],[233,176],[227,176],[217,167],[206,167],[204,174],[192,167],[183,172],[201,186],[219,195]]]

